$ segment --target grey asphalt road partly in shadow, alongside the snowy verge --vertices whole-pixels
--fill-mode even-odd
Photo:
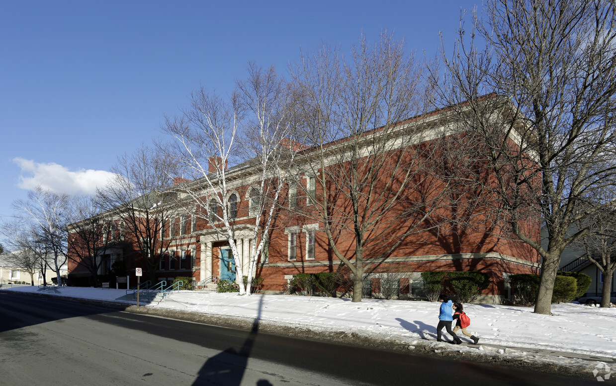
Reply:
[[[0,385],[590,385],[0,291]]]

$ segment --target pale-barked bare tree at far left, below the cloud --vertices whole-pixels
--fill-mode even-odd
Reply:
[[[62,283],[62,267],[67,263],[67,227],[70,223],[71,196],[54,193],[42,187],[28,191],[28,198],[13,203],[17,222],[12,226],[22,230],[17,239],[20,249],[26,249],[54,271],[57,283]],[[4,227],[6,230],[6,227]],[[38,252],[44,251],[44,255]],[[43,269],[44,271],[44,269]]]

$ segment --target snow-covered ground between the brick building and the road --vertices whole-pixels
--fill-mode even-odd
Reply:
[[[36,286],[2,287],[0,291],[34,292]],[[59,287],[45,291],[57,296],[125,300],[123,289]],[[123,300],[124,299],[124,300]],[[141,305],[144,305],[142,302]],[[145,307],[177,308],[298,326],[312,331],[355,332],[376,339],[405,342],[409,348],[422,346],[435,352],[509,356],[523,361],[541,361],[588,369],[589,374],[616,378],[616,308],[599,308],[568,303],[552,305],[554,315],[538,315],[532,307],[468,304],[464,311],[471,318],[468,331],[480,338],[478,345],[458,332],[468,343],[452,345],[436,342],[440,303],[407,300],[351,299],[291,295],[217,294],[173,292],[164,302]],[[444,331],[445,339],[449,336]],[[606,367],[607,366],[607,367]],[[612,379],[613,380],[613,379]]]

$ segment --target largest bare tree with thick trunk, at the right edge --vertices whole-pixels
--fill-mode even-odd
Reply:
[[[549,314],[562,251],[599,231],[572,225],[608,205],[578,203],[616,182],[614,1],[484,4],[484,20],[475,14],[470,31],[461,22],[455,52],[442,54],[445,76],[433,79],[439,105],[473,133],[468,148],[484,150],[493,213],[543,260],[535,312]]]

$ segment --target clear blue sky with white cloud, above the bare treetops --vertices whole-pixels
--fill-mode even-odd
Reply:
[[[254,60],[285,74],[300,49],[360,32],[451,47],[480,1],[18,1],[0,4],[0,220],[38,183],[87,193],[160,135],[202,84],[229,92]]]

